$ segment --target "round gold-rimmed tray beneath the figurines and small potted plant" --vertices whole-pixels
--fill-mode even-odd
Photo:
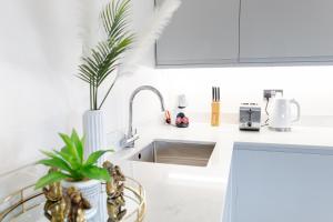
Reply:
[[[145,214],[145,193],[142,185],[131,178],[125,178],[124,199],[127,214],[123,222],[141,222]],[[44,216],[43,205],[46,198],[43,193],[33,190],[34,185],[23,188],[11,195],[0,200],[0,222],[48,222]],[[105,185],[101,183],[99,212],[89,222],[107,222],[107,193]]]

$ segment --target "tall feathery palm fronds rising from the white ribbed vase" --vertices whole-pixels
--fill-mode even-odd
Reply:
[[[133,34],[128,31],[128,17],[130,0],[112,0],[101,12],[101,20],[107,40],[100,41],[91,54],[83,57],[79,65],[78,77],[90,85],[90,110],[102,108],[105,99],[112,90],[117,77],[99,103],[99,88],[105,79],[114,73],[120,64],[123,52],[131,48]]]

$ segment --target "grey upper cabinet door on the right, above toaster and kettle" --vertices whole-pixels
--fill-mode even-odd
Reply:
[[[241,62],[333,61],[332,0],[242,0]]]

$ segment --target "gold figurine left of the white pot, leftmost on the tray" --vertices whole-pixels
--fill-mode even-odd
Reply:
[[[57,172],[57,168],[51,168],[49,173]],[[44,215],[51,222],[63,222],[67,218],[67,203],[62,195],[60,182],[51,183],[42,189],[47,202],[44,204]]]

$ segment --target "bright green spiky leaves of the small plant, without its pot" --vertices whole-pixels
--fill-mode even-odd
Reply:
[[[88,159],[84,160],[84,138],[80,139],[75,130],[72,131],[70,137],[62,133],[60,133],[60,137],[65,144],[64,148],[62,148],[61,151],[41,151],[48,159],[37,162],[38,164],[56,168],[58,171],[49,172],[39,179],[36,189],[61,180],[70,180],[73,182],[84,181],[87,179],[110,181],[111,178],[108,171],[97,167],[97,162],[104,153],[111,152],[112,150],[99,150],[91,153]]]

